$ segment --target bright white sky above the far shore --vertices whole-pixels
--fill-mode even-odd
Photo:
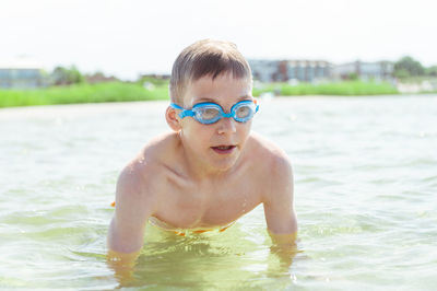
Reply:
[[[123,80],[169,73],[199,39],[249,59],[437,65],[435,0],[0,0],[0,60],[75,65]]]

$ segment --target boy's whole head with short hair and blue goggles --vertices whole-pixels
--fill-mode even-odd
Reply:
[[[166,119],[178,131],[190,163],[203,172],[226,171],[236,163],[258,109],[251,85],[250,67],[232,43],[200,40],[178,56]],[[181,116],[184,109],[192,114],[193,106],[199,115]],[[222,118],[224,114],[227,118]]]

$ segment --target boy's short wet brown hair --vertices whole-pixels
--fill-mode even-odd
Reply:
[[[203,39],[185,48],[173,65],[169,84],[172,102],[184,106],[187,85],[202,77],[216,77],[229,73],[235,79],[252,82],[249,63],[229,42]]]

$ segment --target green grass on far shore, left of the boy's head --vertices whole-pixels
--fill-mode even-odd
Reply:
[[[0,107],[168,100],[168,86],[146,90],[133,83],[76,84],[35,90],[0,90]]]

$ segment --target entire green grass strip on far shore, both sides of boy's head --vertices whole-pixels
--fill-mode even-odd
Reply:
[[[343,81],[323,84],[269,83],[253,89],[253,95],[273,92],[282,96],[296,95],[383,95],[398,94],[395,88],[385,82]],[[146,90],[138,83],[75,84],[35,90],[0,90],[0,107],[99,103],[123,101],[168,100],[168,82]]]

